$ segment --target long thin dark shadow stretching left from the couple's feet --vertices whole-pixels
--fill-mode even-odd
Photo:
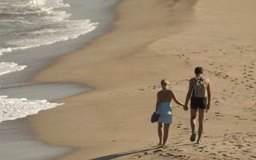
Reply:
[[[178,147],[178,146],[192,146],[192,145],[194,145],[194,144],[190,143],[190,144],[174,145],[174,146],[171,146],[171,147],[167,147],[164,150],[172,149],[172,148]],[[110,154],[110,155],[102,156],[102,157],[99,157],[99,158],[93,158],[93,159],[90,159],[90,160],[110,160],[110,159],[119,158],[119,157],[130,155],[130,154],[138,154],[138,153],[144,153],[144,152],[150,151],[150,150],[160,150],[160,149],[162,149],[162,147],[153,146],[152,148],[146,149],[146,150],[133,150],[133,151],[130,151],[130,152],[123,152],[123,153],[120,153],[120,154]]]

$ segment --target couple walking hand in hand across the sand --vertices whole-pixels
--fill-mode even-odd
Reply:
[[[158,146],[166,147],[166,141],[168,138],[169,126],[172,123],[172,108],[171,102],[174,100],[178,105],[183,106],[184,110],[188,110],[188,102],[190,101],[190,125],[192,134],[190,141],[194,142],[196,138],[195,124],[196,115],[198,112],[198,140],[197,143],[201,144],[202,130],[204,114],[210,109],[210,80],[204,78],[202,74],[202,67],[196,67],[194,70],[195,77],[190,79],[190,86],[188,93],[186,94],[186,102],[183,104],[178,100],[174,91],[168,90],[169,82],[162,79],[162,90],[158,92],[157,104],[155,112],[159,115],[158,118]]]

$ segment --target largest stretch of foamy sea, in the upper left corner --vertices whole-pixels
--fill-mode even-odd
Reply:
[[[62,0],[0,0],[0,54],[78,38],[95,30],[90,19],[70,20]]]

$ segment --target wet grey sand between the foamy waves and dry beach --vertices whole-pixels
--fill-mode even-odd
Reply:
[[[66,1],[68,3],[76,4],[79,1]],[[93,2],[93,1],[92,1]],[[26,65],[25,70],[18,72],[13,72],[10,74],[5,74],[1,78],[2,88],[0,93],[8,95],[8,98],[28,98],[28,99],[47,99],[48,101],[54,101],[59,98],[72,97],[78,94],[92,90],[92,88],[86,86],[82,83],[38,83],[30,81],[30,78],[37,74],[41,70],[46,70],[48,66],[54,64],[56,59],[63,54],[68,54],[71,51],[80,49],[82,46],[87,45],[94,38],[97,38],[99,35],[106,33],[110,30],[109,23],[113,21],[113,13],[110,12],[112,5],[117,2],[117,0],[109,2],[107,4],[97,4],[92,8],[98,8],[102,10],[101,13],[94,15],[93,10],[87,12],[79,12],[78,9],[82,10],[82,7],[72,7],[68,11],[72,13],[71,19],[86,18],[92,16],[96,18],[97,21],[100,21],[102,24],[98,26],[96,31],[89,34],[79,36],[75,39],[69,39],[64,42],[57,42],[50,45],[42,45],[38,47],[29,48],[26,50],[14,50],[10,53],[4,53],[1,58],[2,61],[15,61],[19,65]],[[81,2],[80,2],[81,3]],[[89,1],[86,4],[90,3]],[[96,3],[96,1],[94,1]],[[93,3],[93,5],[95,5]],[[88,6],[88,5],[86,5]],[[74,10],[76,12],[74,12]],[[86,13],[86,17],[85,16]],[[101,15],[102,14],[102,15]],[[103,15],[104,14],[104,15]],[[35,114],[36,115],[36,114]],[[26,128],[26,130],[24,129]],[[1,123],[0,130],[2,133],[10,132],[8,139],[14,141],[9,143],[5,141],[6,136],[0,134],[2,146],[1,146],[1,158],[5,159],[14,159],[26,157],[26,159],[45,159],[45,158],[57,158],[62,154],[69,153],[70,150],[74,148],[62,147],[62,146],[53,146],[47,144],[46,142],[38,141],[34,138],[34,131],[30,127],[30,120],[26,118],[18,118],[11,121],[5,121]],[[16,130],[19,130],[18,132]],[[18,137],[18,138],[17,138]],[[17,143],[17,144],[16,144]],[[13,144],[14,146],[12,146]],[[8,146],[8,147],[5,147]],[[18,151],[16,146],[21,146],[21,152],[26,153],[26,150],[34,150],[34,153],[27,153],[24,155],[19,155],[17,157]],[[39,153],[40,152],[40,153]],[[12,154],[11,154],[12,153]]]

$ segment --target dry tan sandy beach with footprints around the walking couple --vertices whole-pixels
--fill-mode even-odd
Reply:
[[[74,82],[92,90],[28,116],[38,140],[71,146],[58,158],[256,158],[256,2],[122,0],[113,30],[66,54],[30,82]],[[173,103],[166,149],[150,123],[162,78],[185,101],[194,67],[212,84],[203,144],[190,142],[190,114]]]

